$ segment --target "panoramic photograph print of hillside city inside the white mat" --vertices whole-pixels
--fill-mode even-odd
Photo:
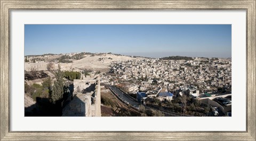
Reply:
[[[231,117],[231,24],[25,24],[25,117]]]

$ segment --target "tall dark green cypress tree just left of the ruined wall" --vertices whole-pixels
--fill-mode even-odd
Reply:
[[[58,70],[55,72],[55,78],[56,80],[53,83],[52,87],[52,95],[51,95],[51,100],[53,103],[58,101],[63,97],[64,93],[64,80],[63,80],[63,72],[60,70],[60,65],[58,66]]]

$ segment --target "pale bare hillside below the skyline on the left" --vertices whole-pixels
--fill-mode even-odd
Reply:
[[[66,54],[69,55],[69,54]],[[44,61],[37,61],[36,63],[33,62],[26,62],[25,63],[25,70],[31,71],[31,70],[47,70],[46,65],[50,61],[58,60],[58,57],[61,55],[53,55],[51,56],[51,60],[49,60],[49,56],[36,56],[36,57],[30,57],[30,60],[36,60],[41,59]],[[71,56],[71,54],[70,54]],[[54,59],[55,57],[55,59]],[[83,58],[82,58],[83,57]],[[123,55],[115,55],[115,54],[108,54],[108,53],[100,53],[100,54],[85,54],[83,55],[79,60],[71,59],[70,61],[72,63],[58,63],[55,62],[55,69],[58,69],[58,64],[60,64],[60,67],[62,70],[68,70],[68,71],[79,71],[83,69],[91,69],[95,71],[101,71],[101,72],[107,72],[109,71],[110,67],[109,65],[112,62],[118,62],[118,61],[128,61],[128,60],[134,60],[134,59],[143,59],[141,58],[134,58],[131,56],[123,56]],[[38,59],[38,60],[39,60]]]

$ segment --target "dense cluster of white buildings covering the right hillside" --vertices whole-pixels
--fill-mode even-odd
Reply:
[[[150,90],[153,84],[169,91],[193,85],[202,92],[231,85],[231,59],[138,59],[113,62],[110,71],[116,75],[103,76],[103,81],[112,84],[127,82],[127,92]]]

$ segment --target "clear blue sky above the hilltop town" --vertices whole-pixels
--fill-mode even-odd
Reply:
[[[231,57],[231,24],[26,24],[25,55]]]

